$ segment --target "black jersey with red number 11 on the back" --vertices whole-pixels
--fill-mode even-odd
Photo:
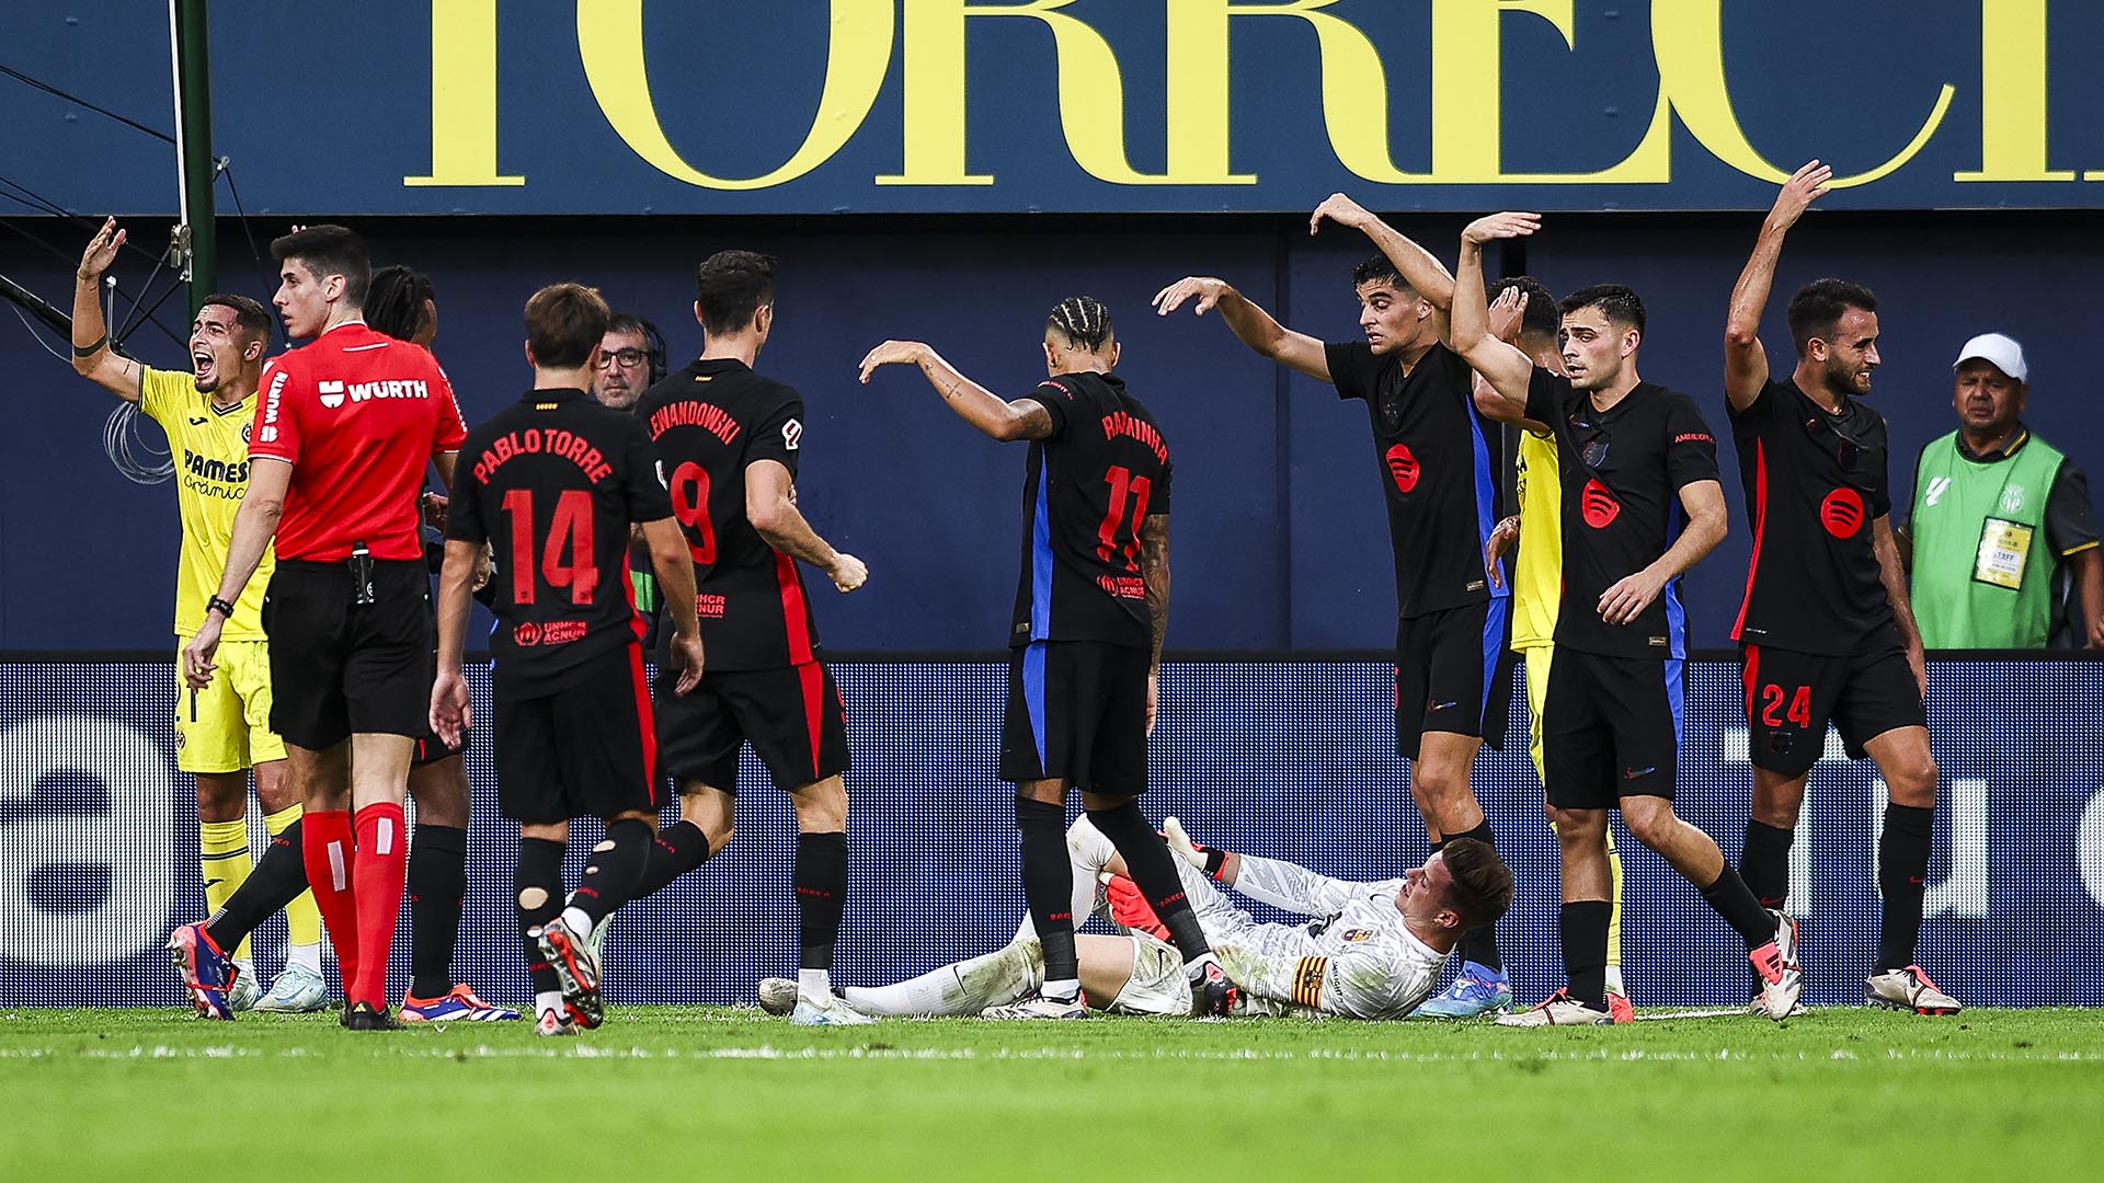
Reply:
[[[1140,522],[1170,512],[1170,446],[1117,375],[1058,375],[1025,398],[1052,415],[1023,478],[1023,577],[1008,644],[1153,646]]]

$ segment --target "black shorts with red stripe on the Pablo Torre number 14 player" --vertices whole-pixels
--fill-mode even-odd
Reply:
[[[640,644],[591,659],[562,690],[494,707],[497,804],[511,821],[656,813],[656,722]]]

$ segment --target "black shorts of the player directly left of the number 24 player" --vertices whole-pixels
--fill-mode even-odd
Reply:
[[[1555,808],[1673,800],[1687,663],[1557,646],[1542,701],[1542,779]]]

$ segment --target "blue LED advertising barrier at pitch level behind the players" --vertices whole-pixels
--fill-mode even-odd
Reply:
[[[985,951],[1014,933],[1020,876],[1010,791],[993,779],[1004,667],[995,659],[842,661],[854,770],[852,878],[835,981],[875,983]],[[2104,661],[1957,659],[1929,671],[1944,806],[1921,960],[1971,1004],[2104,1004]],[[196,802],[175,770],[168,661],[0,663],[0,1006],[175,1006],[162,954],[202,914]],[[469,674],[488,720],[488,676]],[[1736,855],[1751,773],[1738,667],[1687,678],[1681,815]],[[1153,743],[1157,821],[1201,842],[1387,878],[1424,857],[1393,756],[1393,680],[1370,659],[1178,661],[1164,674]],[[1519,876],[1500,926],[1515,989],[1559,983],[1555,844],[1525,756],[1485,754],[1477,794]],[[1839,758],[1816,773],[1793,863],[1805,918],[1805,998],[1858,1002],[1877,945],[1873,865],[1883,785]],[[515,827],[497,817],[488,733],[467,756],[476,794],[469,903],[457,973],[524,1000],[511,914]],[[747,754],[730,850],[608,937],[612,1002],[749,1002],[795,958],[793,819]],[[261,823],[255,825],[261,848]],[[1639,1004],[1744,1002],[1746,962],[1723,924],[1656,855],[1620,831],[1624,975]],[[570,882],[598,840],[572,836]],[[396,941],[393,996],[408,973]],[[259,935],[261,968],[284,924]],[[332,970],[330,970],[332,973]]]

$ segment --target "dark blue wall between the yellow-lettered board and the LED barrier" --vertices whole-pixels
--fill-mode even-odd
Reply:
[[[57,253],[0,236],[0,272],[65,307],[80,236],[23,223]],[[1551,219],[1528,265],[1555,290],[1635,284],[1652,309],[1643,373],[1687,389],[1725,432],[1719,394],[1723,309],[1757,219],[1589,215]],[[1403,219],[1452,259],[1460,219]],[[282,227],[257,227],[259,236]],[[446,219],[368,221],[381,261],[438,284],[438,356],[463,410],[480,419],[526,383],[518,309],[551,280],[600,284],[614,305],[665,326],[675,358],[701,345],[686,312],[692,263],[722,246],[783,255],[781,320],[762,368],[797,385],[810,408],[802,505],[871,566],[854,596],[823,594],[835,650],[970,650],[1002,644],[1018,554],[1023,448],[970,432],[911,370],[854,381],[884,337],[934,343],[968,375],[1023,392],[1041,377],[1037,333],[1060,297],[1111,303],[1124,373],[1176,453],[1174,648],[1378,648],[1393,642],[1393,587],[1365,415],[1328,387],[1248,354],[1216,318],[1157,320],[1147,301],[1189,272],[1220,274],[1330,337],[1357,333],[1347,272],[1365,242],[1298,219]],[[135,225],[156,242],[164,223]],[[223,225],[223,286],[267,297],[242,229]],[[1814,215],[1788,246],[1765,341],[1788,366],[1782,303],[1822,274],[1862,280],[1883,299],[1885,368],[1877,402],[1891,417],[1894,501],[1913,455],[1953,425],[1950,360],[1974,333],[2003,328],[2030,352],[2030,421],[2096,467],[2104,427],[2089,398],[2089,272],[2104,232],[2014,215]],[[126,259],[120,278],[145,280]],[[162,320],[183,330],[181,297]],[[57,345],[48,337],[42,343]],[[183,366],[185,349],[151,326],[141,358]],[[175,570],[175,488],[120,478],[101,455],[112,400],[72,377],[32,333],[0,314],[11,438],[0,501],[0,648],[162,648]],[[147,427],[151,432],[151,427]],[[1725,644],[1744,585],[1738,472],[1723,448],[1732,539],[1687,581],[1696,642]]]

